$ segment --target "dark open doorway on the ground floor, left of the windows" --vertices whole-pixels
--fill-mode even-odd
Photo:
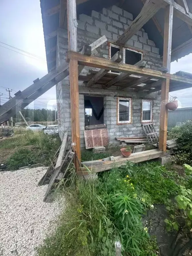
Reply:
[[[84,96],[85,126],[104,123],[103,97]]]

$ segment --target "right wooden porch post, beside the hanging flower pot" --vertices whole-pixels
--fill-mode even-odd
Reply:
[[[163,66],[168,68],[169,73],[170,73],[170,67],[171,67],[172,29],[173,29],[173,6],[169,5],[165,9],[164,46],[163,46]],[[167,143],[168,109],[166,108],[166,103],[169,100],[169,82],[170,82],[169,79],[165,79],[162,81],[162,86],[161,86],[159,149],[164,152],[166,152],[166,143]]]

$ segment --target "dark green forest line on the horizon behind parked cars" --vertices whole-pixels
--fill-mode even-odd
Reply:
[[[50,122],[55,121],[55,110],[50,109],[30,109],[26,108],[21,110],[22,115],[25,117],[28,122]],[[57,111],[56,111],[56,119],[57,119]],[[15,117],[13,117],[13,121],[15,122],[23,122],[23,118],[18,112]]]

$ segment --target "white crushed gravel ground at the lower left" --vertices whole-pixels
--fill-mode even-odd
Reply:
[[[43,202],[48,185],[37,185],[46,169],[0,172],[0,255],[36,255],[34,248],[60,213],[57,202]]]

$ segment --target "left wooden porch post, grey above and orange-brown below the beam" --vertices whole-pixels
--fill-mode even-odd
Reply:
[[[77,13],[76,0],[67,0],[67,17],[68,17],[68,43],[69,50],[77,52]],[[78,84],[78,62],[77,60],[69,61],[69,82],[71,96],[71,132],[72,142],[75,143],[75,151],[81,161],[80,145],[80,123],[79,123],[79,84]],[[75,162],[78,169],[78,163]]]

